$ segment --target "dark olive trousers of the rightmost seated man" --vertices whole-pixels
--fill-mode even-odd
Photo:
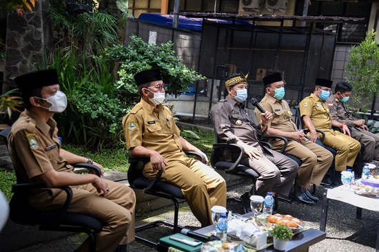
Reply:
[[[379,136],[367,130],[351,130],[351,137],[365,145],[363,149],[363,162],[372,162],[379,159]]]

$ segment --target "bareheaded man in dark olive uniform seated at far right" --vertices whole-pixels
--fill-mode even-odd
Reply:
[[[345,81],[340,81],[334,88],[334,95],[327,100],[333,103],[330,108],[331,117],[338,123],[346,123],[350,127],[351,137],[365,145],[363,162],[379,160],[379,136],[369,132],[365,120],[355,118],[347,108],[347,101],[353,87]]]

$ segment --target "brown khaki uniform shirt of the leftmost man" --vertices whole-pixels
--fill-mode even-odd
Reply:
[[[61,157],[57,123],[47,123],[25,109],[12,125],[8,148],[14,168],[25,182],[41,182],[36,177],[52,169],[72,172]]]

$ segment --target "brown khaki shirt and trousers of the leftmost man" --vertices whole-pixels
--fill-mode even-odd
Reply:
[[[52,118],[46,123],[25,109],[12,125],[8,142],[21,182],[41,182],[38,176],[52,169],[58,172],[73,170],[60,154],[57,123]],[[73,196],[68,211],[94,216],[105,223],[103,230],[95,234],[99,251],[114,251],[118,244],[134,240],[134,191],[113,181],[107,181],[107,186],[110,192],[106,197],[92,184],[70,186]],[[38,189],[32,191],[28,199],[36,209],[57,209],[65,202],[66,193],[58,188]],[[89,245],[88,241],[84,242],[78,251],[89,251]]]

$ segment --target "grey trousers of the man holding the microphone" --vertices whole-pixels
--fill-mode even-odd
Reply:
[[[276,151],[272,151],[272,154],[265,153],[258,159],[249,159],[245,155],[240,163],[258,172],[256,193],[263,197],[268,191],[288,196],[298,173],[298,164]]]

